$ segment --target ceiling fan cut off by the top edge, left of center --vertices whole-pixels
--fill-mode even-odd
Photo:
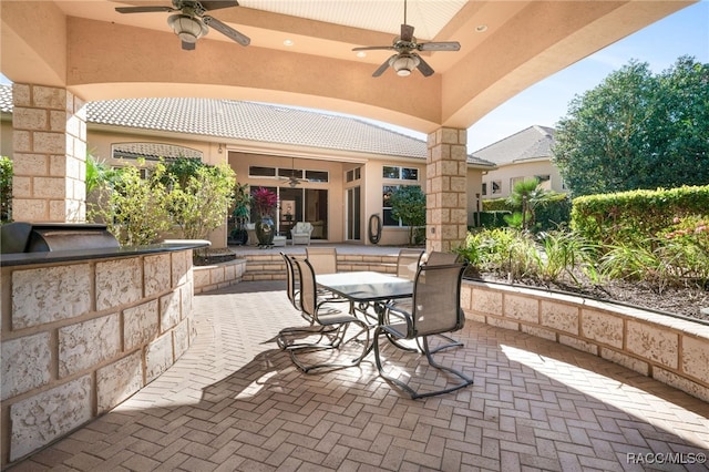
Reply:
[[[152,13],[158,11],[172,13],[178,11],[179,13],[169,16],[167,24],[169,24],[173,31],[175,31],[175,34],[182,40],[182,49],[192,51],[195,49],[197,40],[209,31],[207,27],[214,28],[242,45],[248,45],[251,42],[248,37],[216,18],[205,14],[209,10],[238,7],[238,4],[236,0],[173,0],[173,7],[117,7],[115,11],[119,13]]]

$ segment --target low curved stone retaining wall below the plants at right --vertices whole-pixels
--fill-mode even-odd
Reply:
[[[709,401],[709,326],[580,297],[464,280],[475,321],[571,346]]]

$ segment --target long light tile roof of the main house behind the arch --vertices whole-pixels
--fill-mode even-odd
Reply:
[[[0,112],[12,88],[0,85]],[[425,141],[357,117],[234,100],[124,99],[86,104],[89,123],[424,160]],[[490,165],[469,156],[469,163]]]

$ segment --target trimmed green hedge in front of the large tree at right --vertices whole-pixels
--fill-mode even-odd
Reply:
[[[709,185],[574,198],[572,228],[599,244],[654,237],[675,217],[709,215]]]

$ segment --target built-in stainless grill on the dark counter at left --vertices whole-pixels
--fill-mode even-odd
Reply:
[[[106,225],[10,223],[0,226],[0,253],[51,253],[119,247]]]

